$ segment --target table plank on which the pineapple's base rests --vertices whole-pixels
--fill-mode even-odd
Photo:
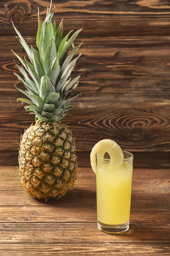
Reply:
[[[64,198],[57,201],[44,201],[31,198],[24,190],[0,191],[0,206],[72,206],[86,207],[91,209],[96,201],[96,191],[94,189],[80,189],[74,186],[74,190],[69,192]],[[131,206],[134,207],[170,207],[170,195],[155,192],[133,192]]]

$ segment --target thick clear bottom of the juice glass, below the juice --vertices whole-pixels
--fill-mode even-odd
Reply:
[[[129,229],[129,221],[120,225],[108,225],[97,221],[97,227],[100,231],[111,234],[119,234]]]

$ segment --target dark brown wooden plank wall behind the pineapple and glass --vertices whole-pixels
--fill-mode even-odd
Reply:
[[[34,122],[16,99],[14,55],[24,56],[13,20],[35,46],[37,6],[49,0],[0,2],[0,164],[17,165],[20,134]],[[63,120],[76,137],[79,166],[93,145],[116,140],[134,153],[135,167],[170,166],[170,2],[168,0],[53,0],[64,32],[82,28],[74,75],[83,73],[78,108]],[[16,59],[16,58],[15,58]]]

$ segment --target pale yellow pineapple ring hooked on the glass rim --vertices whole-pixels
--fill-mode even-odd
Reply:
[[[96,173],[96,154],[100,153],[99,157],[104,158],[105,153],[110,155],[111,160],[123,160],[124,155],[120,146],[114,140],[100,140],[91,150],[91,168]],[[121,161],[122,162],[122,161]]]

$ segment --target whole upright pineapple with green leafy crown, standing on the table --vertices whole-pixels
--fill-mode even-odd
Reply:
[[[26,192],[34,198],[44,200],[64,196],[73,187],[77,172],[74,138],[60,120],[68,110],[75,107],[70,102],[79,95],[71,94],[81,76],[72,80],[69,77],[81,55],[73,59],[81,46],[79,44],[74,47],[74,40],[82,29],[68,40],[72,31],[63,38],[62,28],[62,20],[56,26],[54,9],[47,9],[43,22],[38,9],[37,51],[26,44],[14,26],[17,38],[30,60],[27,61],[25,57],[23,59],[12,51],[23,64],[22,67],[15,63],[23,78],[14,74],[26,90],[16,85],[15,87],[27,97],[17,101],[27,104],[26,111],[34,114],[36,121],[21,136],[20,180]]]

